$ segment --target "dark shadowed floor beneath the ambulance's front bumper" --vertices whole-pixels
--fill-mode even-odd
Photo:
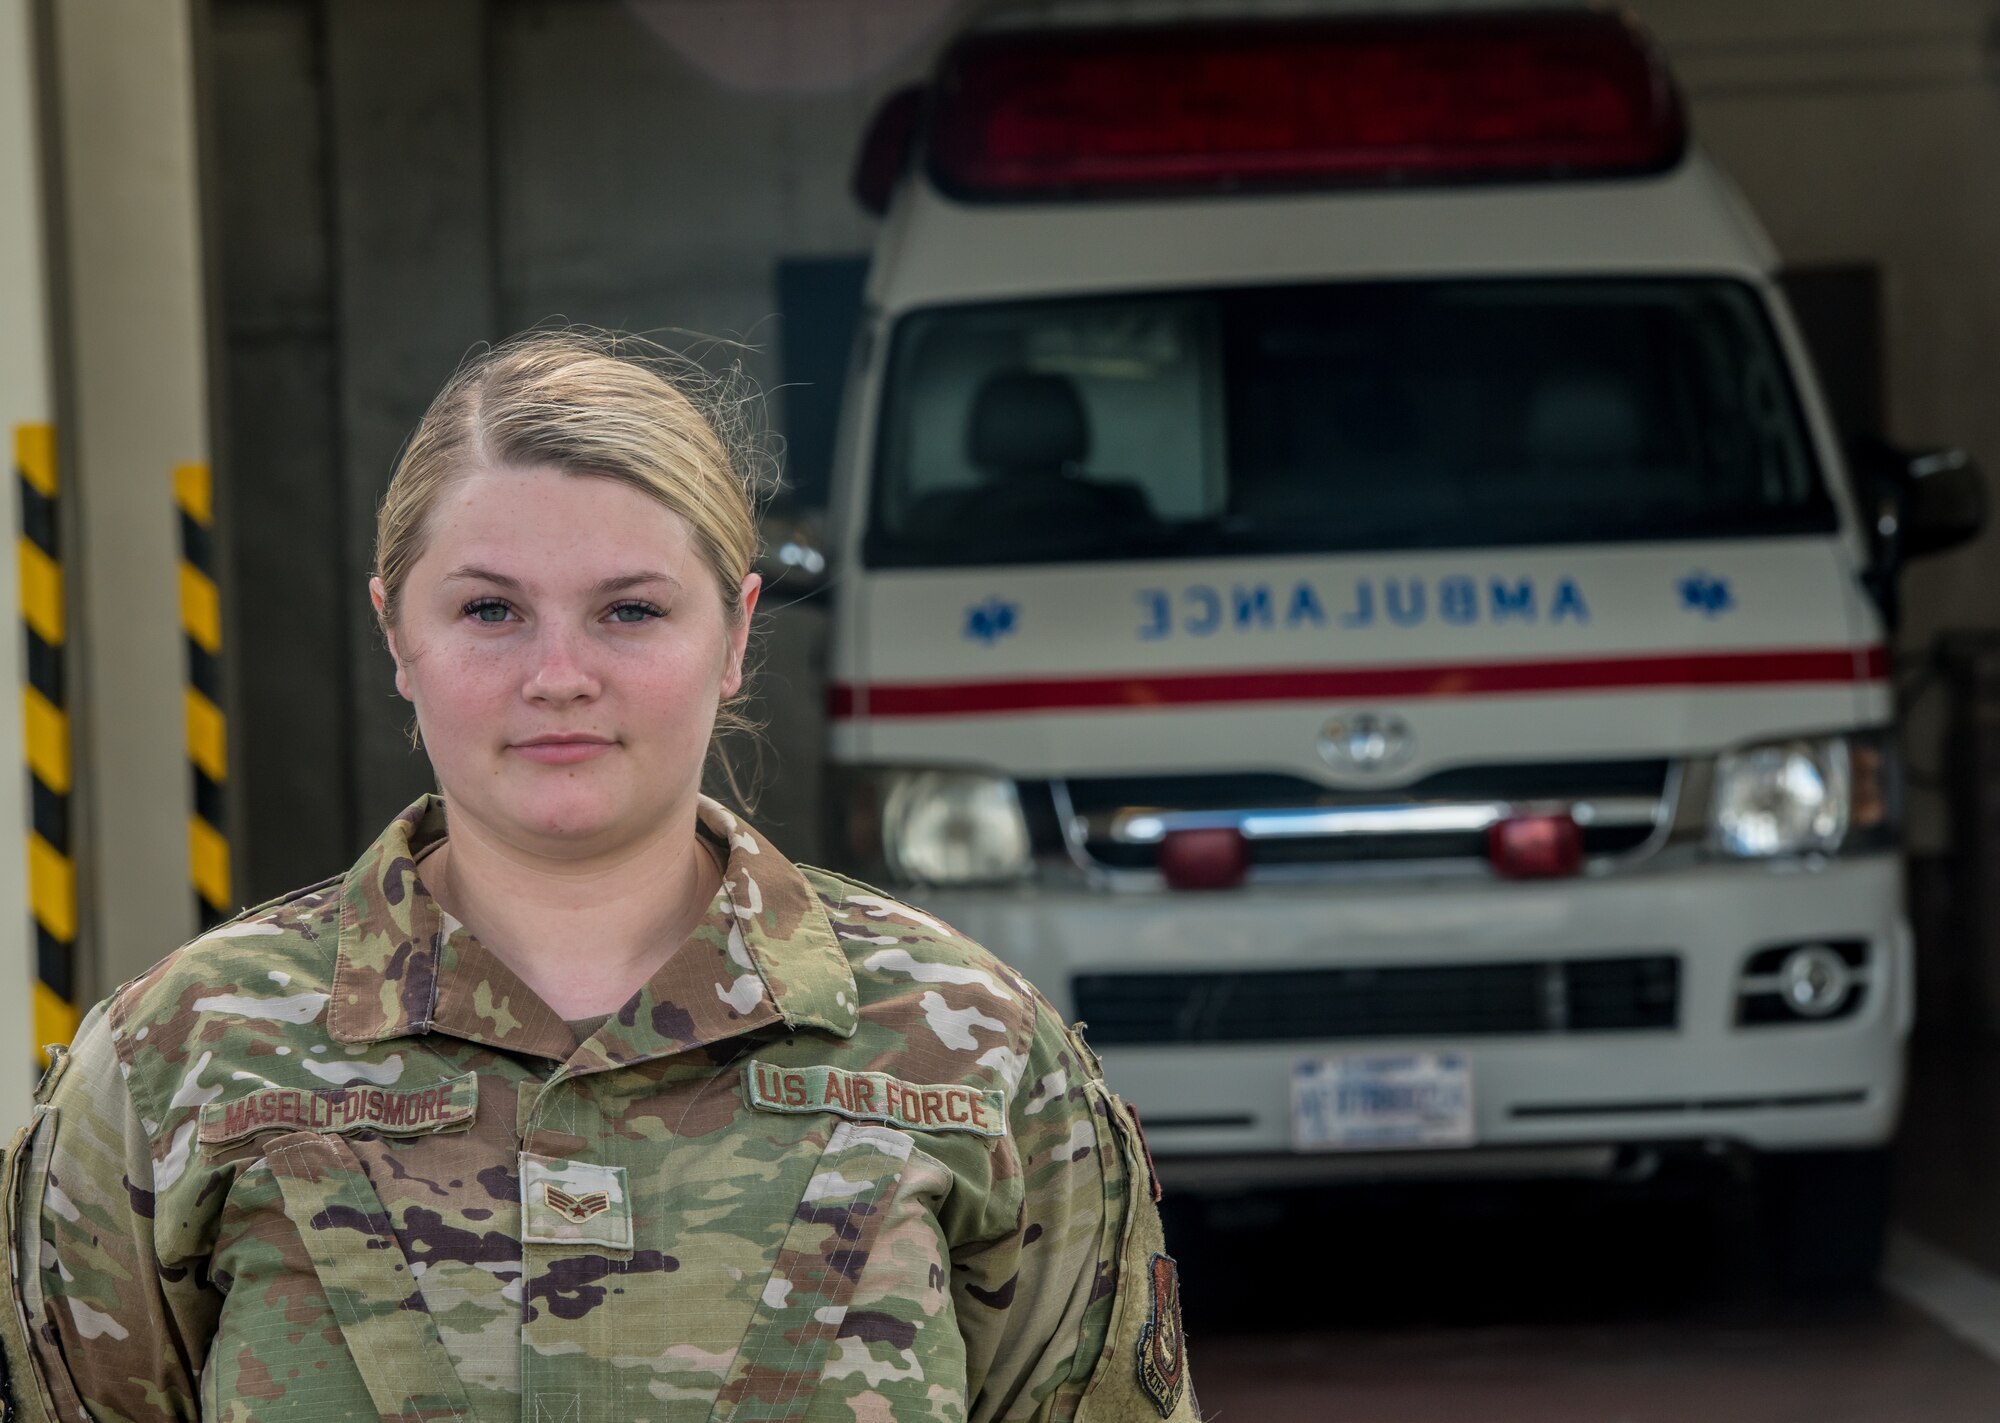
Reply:
[[[1302,1239],[1314,1213],[1324,1227]],[[1990,1341],[1982,1351],[1956,1337],[1894,1281],[1786,1297],[1758,1267],[1746,1217],[1728,1209],[1598,1209],[1528,1193],[1438,1217],[1320,1201],[1248,1233],[1182,1241],[1196,1389],[1204,1417],[1222,1423],[2000,1417]]]

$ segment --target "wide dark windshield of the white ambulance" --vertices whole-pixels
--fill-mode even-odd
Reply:
[[[1748,286],[1382,282],[904,318],[864,558],[954,568],[1834,528]]]

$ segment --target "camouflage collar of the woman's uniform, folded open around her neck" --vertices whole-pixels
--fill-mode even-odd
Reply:
[[[784,1023],[852,1037],[854,971],[798,867],[708,799],[700,831],[724,855],[700,927],[632,999],[578,1045],[548,1003],[424,889],[416,861],[444,839],[444,801],[424,795],[348,871],[328,1035],[378,1043],[450,1033],[574,1071],[664,1057]],[[586,945],[578,945],[586,951]]]

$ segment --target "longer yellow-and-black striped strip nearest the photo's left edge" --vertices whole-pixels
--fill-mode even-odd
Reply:
[[[58,532],[56,430],[14,428],[20,484],[20,616],[28,644],[22,688],[28,785],[28,905],[34,915],[34,1041],[76,1035],[76,857],[70,845],[70,710],[64,700],[66,618]],[[46,1055],[44,1055],[46,1061]]]

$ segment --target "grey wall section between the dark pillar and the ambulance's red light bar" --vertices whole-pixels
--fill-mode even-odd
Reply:
[[[776,264],[868,250],[874,222],[848,196],[862,128],[882,92],[914,78],[952,10],[494,4],[502,326],[742,342],[746,368],[770,384]],[[854,22],[828,24],[842,12]]]

